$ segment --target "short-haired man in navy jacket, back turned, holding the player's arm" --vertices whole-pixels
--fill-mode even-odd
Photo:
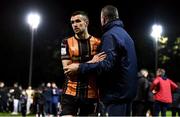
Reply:
[[[134,42],[123,29],[116,7],[107,5],[101,10],[102,36],[101,52],[95,55],[96,62],[71,64],[66,75],[78,73],[99,75],[100,100],[110,116],[124,116],[130,110],[130,103],[136,95],[137,60]],[[98,61],[98,62],[97,62]],[[87,79],[88,80],[88,79]]]

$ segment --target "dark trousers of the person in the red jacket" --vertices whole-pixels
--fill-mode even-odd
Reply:
[[[161,112],[161,116],[166,116],[168,106],[169,104],[167,103],[155,101],[153,116],[159,116],[159,112]]]

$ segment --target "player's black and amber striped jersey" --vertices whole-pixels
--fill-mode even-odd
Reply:
[[[100,46],[100,40],[93,36],[88,39],[77,39],[74,36],[64,39],[61,43],[61,59],[72,63],[84,63],[92,59]],[[84,98],[97,98],[97,88],[94,75],[66,78],[64,93]]]

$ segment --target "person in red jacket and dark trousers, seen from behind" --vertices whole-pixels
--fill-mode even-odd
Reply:
[[[154,93],[154,114],[153,116],[166,116],[168,106],[172,103],[172,92],[177,89],[177,85],[166,77],[165,70],[158,68],[156,78],[151,84],[151,91]]]

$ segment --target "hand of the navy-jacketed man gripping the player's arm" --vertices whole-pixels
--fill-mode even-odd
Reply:
[[[66,76],[75,76],[78,73],[79,63],[72,63],[64,67],[64,73]]]

